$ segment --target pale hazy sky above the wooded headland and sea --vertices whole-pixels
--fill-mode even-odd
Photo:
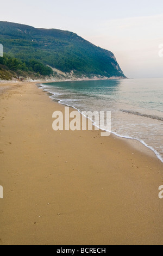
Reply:
[[[112,51],[129,78],[163,77],[162,0],[5,0],[0,8],[1,21],[71,31]]]

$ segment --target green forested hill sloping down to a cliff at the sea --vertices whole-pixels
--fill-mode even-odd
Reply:
[[[62,72],[73,71],[79,77],[126,78],[112,52],[72,32],[1,21],[0,43],[4,46],[4,52],[24,62],[35,59]]]

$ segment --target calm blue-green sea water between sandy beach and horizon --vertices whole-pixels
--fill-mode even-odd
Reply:
[[[111,132],[135,138],[163,162],[163,78],[46,83],[53,99],[83,111],[111,111]]]

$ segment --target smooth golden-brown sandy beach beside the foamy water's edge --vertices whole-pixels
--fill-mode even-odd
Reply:
[[[54,131],[64,106],[35,83],[0,90],[0,245],[163,244],[152,151],[100,131]]]

